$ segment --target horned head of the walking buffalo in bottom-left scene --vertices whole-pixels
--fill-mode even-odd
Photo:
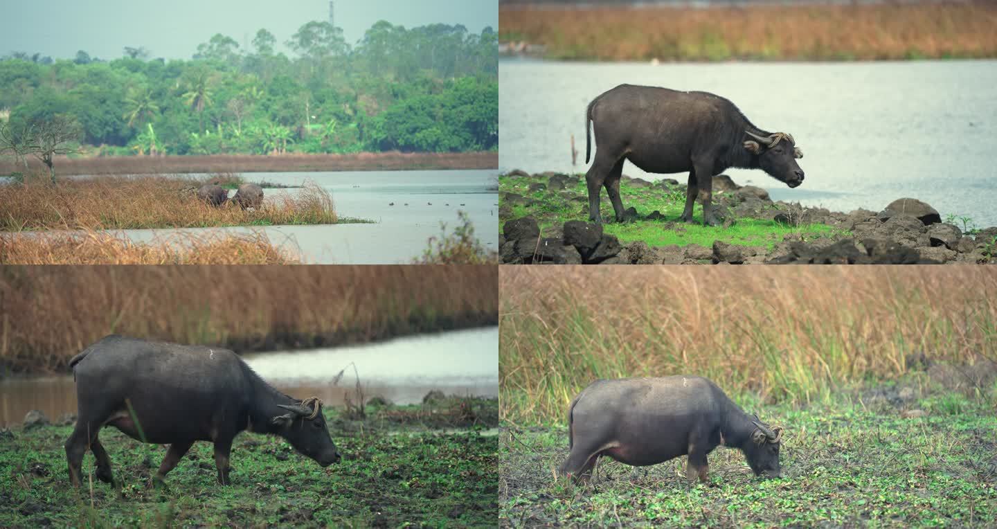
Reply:
[[[273,417],[277,434],[287,439],[294,449],[311,457],[322,466],[339,461],[336,444],[322,416],[322,401],[308,397],[295,404],[278,404],[288,412]]]

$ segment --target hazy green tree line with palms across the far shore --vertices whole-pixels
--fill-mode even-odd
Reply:
[[[286,45],[260,29],[248,50],[216,34],[190,60],[14,53],[0,60],[0,127],[17,142],[58,121],[100,155],[498,148],[492,28],[381,21],[350,46],[309,22]]]

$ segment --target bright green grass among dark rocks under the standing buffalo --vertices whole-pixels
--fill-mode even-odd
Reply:
[[[536,219],[540,226],[540,233],[544,235],[550,233],[552,228],[560,228],[568,220],[588,220],[588,191],[585,188],[584,175],[580,174],[579,176],[578,183],[568,189],[556,192],[529,191],[529,185],[539,181],[536,178],[499,176],[499,193],[515,193],[528,199],[512,203],[505,199],[503,205],[508,204],[510,209],[499,220],[504,222],[511,218],[529,215]],[[685,207],[684,186],[673,186],[671,189],[665,189],[659,185],[638,187],[626,181],[620,183],[623,205],[624,207],[635,207],[640,219],[633,222],[617,223],[613,220],[615,214],[609,198],[605,195],[605,190],[601,192],[602,200],[600,200],[599,205],[602,218],[606,222],[603,229],[606,233],[618,237],[624,244],[642,240],[650,246],[669,244],[710,246],[713,241],[721,240],[730,244],[765,246],[771,249],[775,244],[781,242],[788,233],[799,233],[803,240],[844,233],[825,224],[790,226],[773,220],[756,218],[740,218],[734,225],[723,229],[707,227],[701,223],[687,224],[679,221],[679,215],[682,214],[682,209]],[[502,195],[499,194],[499,196]],[[715,202],[724,199],[723,193],[716,193],[714,197]],[[647,220],[645,217],[653,211],[660,212],[664,218]],[[694,217],[699,221],[703,218],[702,209],[698,203],[694,209]],[[675,224],[668,225],[669,222]]]

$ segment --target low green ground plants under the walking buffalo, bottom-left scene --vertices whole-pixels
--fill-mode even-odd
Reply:
[[[470,413],[469,414],[469,410]],[[72,426],[0,434],[0,526],[492,527],[498,517],[496,399],[448,398],[417,406],[368,406],[369,418],[325,409],[343,460],[328,468],[278,437],[242,433],[232,446],[232,484],[215,481],[211,445],[196,442],[166,478],[150,476],[166,454],[115,428],[101,440],[121,496],[92,478],[70,485],[63,443]],[[427,416],[437,417],[424,424]],[[454,424],[446,430],[448,417]],[[454,424],[451,424],[452,426]],[[92,486],[91,486],[92,483]]]

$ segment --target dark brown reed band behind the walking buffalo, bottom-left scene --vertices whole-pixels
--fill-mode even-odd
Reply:
[[[238,352],[498,323],[495,266],[0,267],[0,365],[59,372],[105,335]]]

